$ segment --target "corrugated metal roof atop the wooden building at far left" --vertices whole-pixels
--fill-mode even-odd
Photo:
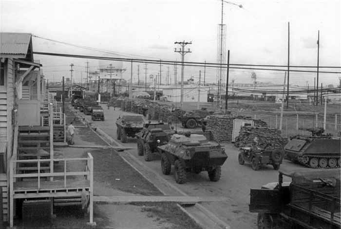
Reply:
[[[31,34],[0,33],[0,53],[26,55],[30,41]]]

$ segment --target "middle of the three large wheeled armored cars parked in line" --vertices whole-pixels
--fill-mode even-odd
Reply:
[[[137,153],[144,156],[146,161],[152,160],[152,154],[158,152],[157,146],[167,144],[170,136],[175,133],[174,128],[170,128],[169,124],[152,123],[149,121],[144,124],[141,132],[137,133]]]

